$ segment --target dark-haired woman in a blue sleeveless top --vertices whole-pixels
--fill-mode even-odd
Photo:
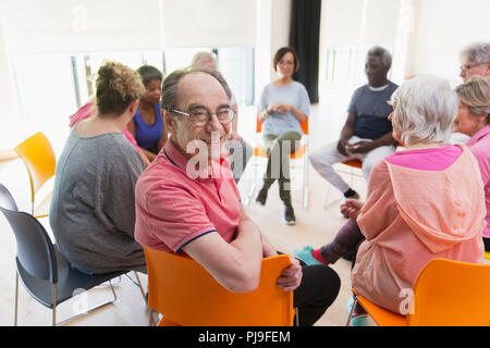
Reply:
[[[146,92],[139,100],[138,109],[127,124],[127,129],[148,160],[152,161],[167,142],[167,132],[164,132],[160,108],[163,74],[150,65],[143,65],[138,67],[137,72],[143,78]]]

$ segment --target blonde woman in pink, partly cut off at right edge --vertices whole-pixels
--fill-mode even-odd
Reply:
[[[490,76],[470,77],[456,87],[460,108],[454,128],[470,136],[466,146],[480,166],[487,204],[487,227],[483,231],[485,250],[490,251]]]

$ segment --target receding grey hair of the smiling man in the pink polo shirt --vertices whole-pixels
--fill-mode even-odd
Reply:
[[[179,82],[182,77],[187,74],[201,72],[211,75],[215,77],[223,87],[228,99],[230,100],[232,97],[230,87],[228,86],[226,80],[220,72],[209,70],[206,67],[187,67],[183,70],[176,70],[163,80],[162,92],[161,92],[161,107],[162,109],[171,110],[175,108],[175,100],[177,94]]]

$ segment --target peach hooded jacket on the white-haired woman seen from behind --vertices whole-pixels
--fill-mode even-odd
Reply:
[[[366,240],[352,272],[353,287],[393,312],[420,270],[434,258],[483,262],[483,185],[465,146],[444,171],[378,162],[357,217]],[[441,284],[441,286],[444,286]]]

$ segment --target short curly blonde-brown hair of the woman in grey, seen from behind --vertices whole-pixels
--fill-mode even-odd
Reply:
[[[145,94],[142,76],[118,62],[105,62],[97,76],[96,104],[99,114],[121,115]]]

